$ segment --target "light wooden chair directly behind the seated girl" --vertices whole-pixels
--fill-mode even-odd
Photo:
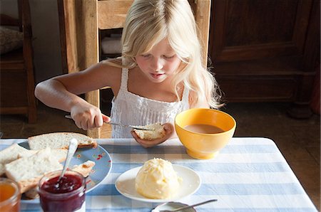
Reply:
[[[99,61],[99,30],[122,28],[133,0],[58,0],[61,23],[61,45],[63,67],[71,73],[88,68]],[[200,40],[208,52],[210,27],[210,0],[191,0]],[[207,63],[207,58],[203,61]],[[86,100],[100,107],[99,90],[86,93]],[[107,128],[107,129],[106,129]],[[104,132],[109,132],[105,134]],[[111,128],[105,124],[101,129],[88,131],[88,136],[101,138],[110,136]]]

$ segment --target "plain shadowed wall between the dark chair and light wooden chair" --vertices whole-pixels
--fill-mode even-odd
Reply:
[[[34,73],[36,83],[62,74],[56,0],[29,0],[34,35]],[[1,14],[18,16],[14,0],[0,1]]]

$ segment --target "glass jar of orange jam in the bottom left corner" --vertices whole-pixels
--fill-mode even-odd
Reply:
[[[7,178],[0,178],[0,211],[18,212],[20,210],[20,189],[18,184]]]

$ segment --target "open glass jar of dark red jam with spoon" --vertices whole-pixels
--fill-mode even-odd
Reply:
[[[58,181],[61,171],[46,174],[39,181],[38,193],[44,211],[85,211],[86,181],[76,171],[66,171]]]

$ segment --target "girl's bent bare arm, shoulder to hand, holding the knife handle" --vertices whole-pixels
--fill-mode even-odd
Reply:
[[[98,63],[91,68],[78,73],[60,75],[36,85],[35,95],[49,107],[71,112],[71,117],[77,127],[93,129],[101,127],[103,120],[110,118],[101,114],[101,110],[78,95],[111,86],[118,92],[117,78],[120,78],[119,68]]]

